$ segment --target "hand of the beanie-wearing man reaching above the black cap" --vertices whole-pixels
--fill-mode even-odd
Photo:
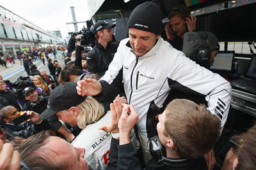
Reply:
[[[95,96],[102,92],[102,86],[99,81],[86,78],[84,80],[77,81],[77,94],[80,96]]]

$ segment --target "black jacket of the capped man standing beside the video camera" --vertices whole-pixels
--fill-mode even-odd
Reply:
[[[95,41],[93,49],[87,53],[87,67],[89,72],[98,73],[102,77],[108,70],[110,62],[116,53],[119,43],[108,43],[106,49]]]

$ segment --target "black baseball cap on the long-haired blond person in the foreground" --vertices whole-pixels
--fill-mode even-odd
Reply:
[[[82,103],[87,96],[79,96],[74,82],[62,83],[52,90],[49,107],[40,115],[42,120],[55,115],[58,111],[67,110]]]

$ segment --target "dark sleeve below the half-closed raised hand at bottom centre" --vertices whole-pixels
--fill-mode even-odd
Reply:
[[[132,146],[132,143],[126,145],[118,145],[117,169],[141,170],[140,161]]]

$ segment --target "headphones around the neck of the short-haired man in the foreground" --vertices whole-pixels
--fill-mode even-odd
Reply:
[[[152,157],[157,160],[157,162],[160,162],[164,157],[166,157],[166,150],[161,144],[158,136],[153,136],[150,138],[148,145],[149,152],[151,153]]]

